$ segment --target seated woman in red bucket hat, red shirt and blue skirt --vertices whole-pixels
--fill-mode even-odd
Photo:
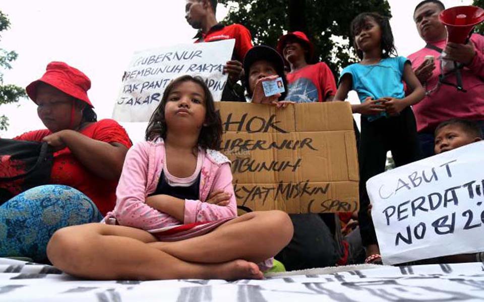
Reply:
[[[45,261],[51,235],[64,226],[98,222],[114,207],[115,189],[131,140],[110,119],[97,121],[89,78],[64,62],[51,62],[27,94],[47,129],[16,140],[45,141],[54,150],[48,185],[0,206],[0,257]]]

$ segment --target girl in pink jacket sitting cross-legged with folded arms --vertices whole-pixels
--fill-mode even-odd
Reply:
[[[128,152],[114,210],[105,223],[57,231],[52,264],[89,279],[262,278],[292,223],[281,211],[237,217],[230,162],[215,151],[221,135],[205,82],[175,79],[147,141]]]

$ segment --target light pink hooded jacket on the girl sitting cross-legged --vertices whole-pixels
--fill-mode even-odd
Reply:
[[[183,222],[145,203],[146,197],[155,192],[164,166],[165,148],[162,140],[140,142],[129,149],[116,189],[116,206],[106,218],[115,218],[120,225],[149,231],[171,225],[236,217],[237,203],[233,192],[230,161],[214,150],[200,152],[203,155],[200,200],[185,200]],[[212,190],[232,193],[229,204],[218,206],[206,203]]]

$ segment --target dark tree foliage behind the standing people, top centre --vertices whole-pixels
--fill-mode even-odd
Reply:
[[[351,20],[362,12],[391,17],[386,0],[219,0],[229,7],[224,23],[240,23],[255,45],[274,46],[283,31],[304,31],[315,44],[315,61],[337,74],[356,61],[349,37]]]

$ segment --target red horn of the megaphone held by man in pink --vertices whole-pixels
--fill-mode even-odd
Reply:
[[[475,6],[460,6],[444,10],[440,22],[447,28],[448,41],[465,44],[474,26],[484,21],[484,10]]]

